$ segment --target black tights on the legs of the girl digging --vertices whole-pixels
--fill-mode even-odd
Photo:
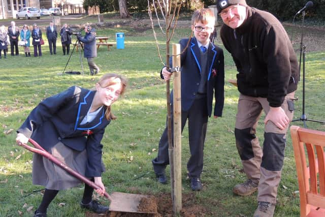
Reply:
[[[93,181],[93,179],[92,179]],[[50,189],[45,189],[44,195],[42,202],[37,209],[39,212],[46,212],[47,207],[50,205],[52,200],[55,198],[59,191],[57,190],[50,190]],[[88,184],[85,184],[85,190],[83,192],[83,197],[82,197],[82,203],[83,204],[88,204],[91,202],[92,199],[92,193],[93,193],[93,188],[91,188]]]

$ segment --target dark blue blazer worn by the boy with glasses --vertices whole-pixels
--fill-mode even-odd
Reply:
[[[189,44],[188,44],[188,40]],[[188,111],[196,98],[201,81],[201,54],[196,38],[179,41],[181,52],[181,106]],[[207,107],[209,117],[212,114],[213,96],[215,105],[213,115],[222,116],[224,104],[224,57],[223,50],[210,42],[208,52]],[[170,60],[172,66],[172,58]],[[161,78],[164,78],[160,72]],[[171,94],[173,103],[173,92]]]

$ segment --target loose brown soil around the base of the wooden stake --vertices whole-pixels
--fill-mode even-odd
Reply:
[[[140,201],[138,206],[139,211],[152,212],[157,210],[157,213],[131,213],[131,212],[109,212],[104,214],[97,214],[87,211],[86,217],[171,217],[173,216],[173,202],[170,194],[160,194],[156,197],[151,196],[144,201]],[[209,211],[196,203],[196,197],[193,193],[182,195],[182,210],[180,216],[182,217],[200,217],[205,216]]]

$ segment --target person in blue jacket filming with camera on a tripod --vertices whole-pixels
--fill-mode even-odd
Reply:
[[[77,38],[84,43],[84,57],[87,58],[90,75],[96,75],[100,72],[100,68],[93,61],[93,58],[97,57],[96,32],[90,25],[86,25],[84,30],[86,35],[77,35]]]

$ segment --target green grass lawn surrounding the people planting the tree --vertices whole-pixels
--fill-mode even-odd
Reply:
[[[188,36],[188,30],[177,29],[173,42]],[[98,76],[88,75],[89,69],[84,58],[84,76],[62,75],[69,56],[62,55],[59,41],[56,55],[49,55],[45,42],[42,57],[24,57],[23,49],[20,48],[20,56],[0,59],[0,216],[31,216],[42,199],[40,190],[43,187],[31,183],[32,154],[15,144],[15,130],[31,109],[44,98],[72,85],[91,88],[104,73],[123,74],[129,81],[125,96],[113,105],[113,112],[118,119],[107,127],[102,141],[103,160],[107,169],[103,174],[103,182],[107,191],[150,195],[170,192],[170,184],[160,185],[155,181],[151,165],[166,121],[166,86],[159,78],[163,65],[157,55],[152,30],[137,33],[133,28],[107,28],[99,29],[98,36],[109,36],[109,41],[115,42],[117,32],[125,33],[125,49],[116,49],[114,46],[111,51],[107,51],[106,47],[100,47],[98,57],[95,58],[95,63],[101,68]],[[161,34],[158,34],[158,40],[162,45],[160,52],[165,55]],[[223,47],[220,40],[217,43]],[[325,52],[310,52],[306,55],[305,113],[311,119],[325,120],[324,60]],[[81,72],[79,53],[76,51],[71,56],[66,71],[71,70]],[[226,51],[225,72],[226,79],[236,76],[234,63]],[[210,118],[208,123],[202,174],[204,190],[194,195],[197,203],[207,207],[213,213],[212,216],[251,216],[256,208],[256,193],[245,198],[232,193],[234,185],[245,179],[234,138],[239,94],[236,87],[228,82],[224,89],[223,117]],[[299,100],[295,105],[295,118],[300,118],[302,82],[296,95]],[[262,138],[263,119],[260,123],[258,136]],[[303,126],[302,121],[294,124]],[[307,121],[307,125],[310,129],[325,130],[321,123]],[[182,145],[182,185],[183,193],[187,194],[191,190],[186,179],[189,157],[186,127]],[[60,192],[51,203],[48,216],[84,216],[84,210],[79,206],[82,193],[82,186]],[[275,216],[298,215],[298,182],[288,135]]]

